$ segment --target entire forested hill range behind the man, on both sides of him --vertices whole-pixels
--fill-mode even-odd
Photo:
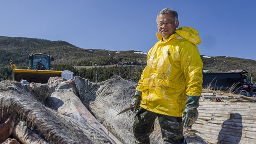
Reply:
[[[0,36],[0,72],[3,68],[10,69],[10,59],[13,60],[18,68],[25,68],[27,65],[27,56],[30,53],[51,54],[51,56],[54,57],[52,64],[57,68],[55,70],[63,70],[64,65],[72,67],[94,65],[120,66],[122,64],[131,64],[132,62],[136,65],[140,65],[140,67],[145,67],[146,65],[147,55],[143,52],[133,50],[109,51],[103,49],[104,47],[102,49],[83,49],[65,41]],[[250,76],[256,79],[256,61],[254,60],[229,56],[207,57],[203,55],[201,55],[201,58],[204,63],[204,70],[210,70],[211,72],[227,72],[233,69],[245,69],[249,72]],[[133,69],[134,68],[131,68],[131,70]],[[138,75],[141,73],[142,69],[143,68],[140,68],[140,70],[137,71]],[[76,74],[78,73],[79,72]],[[81,72],[79,74],[81,75]],[[11,74],[1,73],[0,76],[2,77],[3,75]]]

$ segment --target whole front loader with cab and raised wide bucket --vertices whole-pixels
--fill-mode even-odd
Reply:
[[[13,69],[13,80],[27,80],[28,82],[47,83],[50,77],[61,77],[61,71],[55,71],[50,66],[54,60],[49,54],[31,53],[28,56],[27,69],[17,69],[12,60],[10,65]]]

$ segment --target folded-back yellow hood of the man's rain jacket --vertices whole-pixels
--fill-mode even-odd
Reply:
[[[198,31],[192,27],[184,26],[180,27],[175,31],[181,37],[187,39],[189,42],[199,45],[201,43],[201,39],[198,36]]]

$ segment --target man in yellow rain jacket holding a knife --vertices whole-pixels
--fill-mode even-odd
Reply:
[[[131,105],[139,110],[133,132],[136,144],[150,144],[158,117],[166,144],[187,144],[184,126],[191,127],[197,120],[199,98],[202,92],[203,63],[195,44],[200,44],[198,32],[191,27],[180,27],[178,14],[164,8],[157,15],[159,41],[148,52]]]

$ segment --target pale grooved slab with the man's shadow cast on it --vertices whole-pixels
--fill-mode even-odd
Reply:
[[[192,129],[210,144],[256,144],[256,103],[200,102]]]

